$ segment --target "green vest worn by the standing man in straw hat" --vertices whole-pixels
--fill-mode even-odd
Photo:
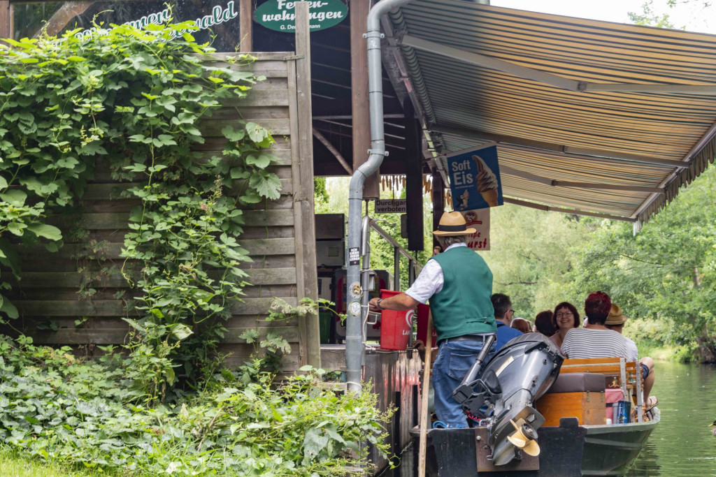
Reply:
[[[453,247],[432,257],[442,268],[443,285],[430,297],[437,339],[495,333],[493,275],[483,257],[468,247]]]

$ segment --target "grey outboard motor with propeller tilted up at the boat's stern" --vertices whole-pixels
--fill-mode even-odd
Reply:
[[[488,421],[495,466],[521,457],[521,451],[537,456],[536,430],[544,418],[533,405],[557,378],[564,359],[548,338],[527,333],[509,341],[475,379],[482,355],[453,391],[453,398],[468,413]]]

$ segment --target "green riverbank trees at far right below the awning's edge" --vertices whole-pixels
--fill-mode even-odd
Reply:
[[[606,290],[630,319],[663,323],[652,338],[716,361],[716,169],[679,192],[636,237],[604,224],[575,255],[575,290]]]

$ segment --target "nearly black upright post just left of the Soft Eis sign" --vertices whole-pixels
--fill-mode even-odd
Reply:
[[[423,250],[422,228],[422,127],[415,119],[410,99],[405,102],[405,198],[407,200],[407,250]]]

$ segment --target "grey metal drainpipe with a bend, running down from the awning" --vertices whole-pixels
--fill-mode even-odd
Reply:
[[[353,173],[348,196],[348,250],[360,248],[361,202],[363,183],[370,174],[377,171],[385,156],[385,134],[383,129],[383,84],[380,58],[380,18],[388,11],[407,4],[410,0],[381,0],[368,14],[368,91],[370,105],[370,150],[368,161]],[[350,255],[350,254],[349,254]],[[349,257],[350,258],[350,257]],[[360,266],[351,265],[349,260],[346,276],[347,322],[346,322],[346,382],[349,390],[360,391],[361,368],[363,364],[363,343],[361,311],[350,304],[359,298],[351,295],[351,285],[360,283]],[[367,290],[363,290],[367,293]],[[359,302],[358,302],[359,303]]]

